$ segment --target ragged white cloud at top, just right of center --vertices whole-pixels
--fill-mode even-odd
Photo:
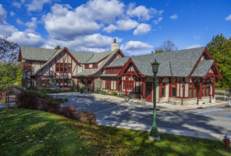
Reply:
[[[129,8],[127,10],[127,15],[130,17],[138,17],[139,20],[149,20],[153,16],[152,15],[161,15],[163,13],[163,10],[157,11],[154,8],[147,9],[145,6],[138,6],[136,8],[134,3],[129,4]]]

